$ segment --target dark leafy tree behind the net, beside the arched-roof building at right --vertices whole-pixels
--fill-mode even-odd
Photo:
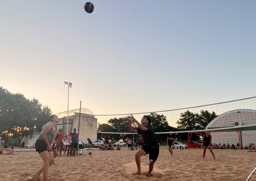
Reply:
[[[177,128],[180,131],[192,131],[205,129],[206,126],[218,115],[215,112],[210,113],[206,110],[201,110],[200,113],[185,111],[180,113],[180,119],[177,121]],[[191,140],[200,139],[202,134],[192,134]],[[182,139],[187,139],[188,134],[181,134]]]

